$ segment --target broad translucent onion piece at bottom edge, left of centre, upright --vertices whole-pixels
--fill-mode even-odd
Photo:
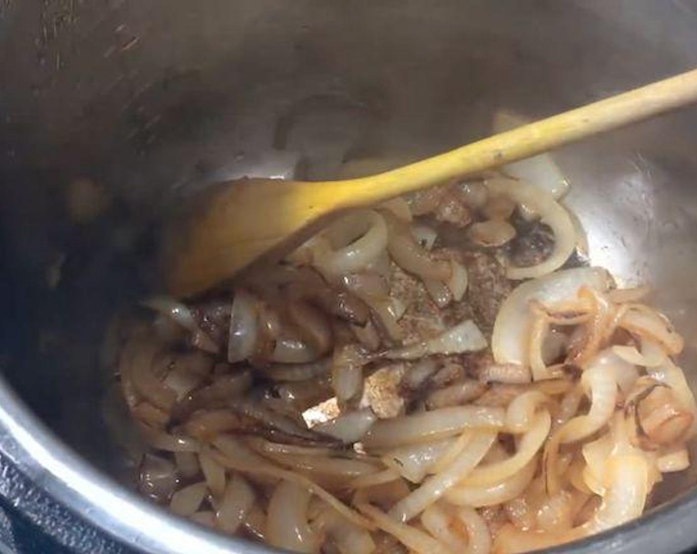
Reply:
[[[307,523],[309,499],[309,491],[296,483],[282,481],[276,486],[268,503],[268,544],[305,554],[319,550],[321,537]]]

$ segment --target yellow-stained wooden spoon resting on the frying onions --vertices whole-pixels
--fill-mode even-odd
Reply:
[[[371,177],[222,183],[168,233],[164,282],[177,296],[200,293],[254,261],[288,252],[339,210],[472,176],[696,101],[697,70],[691,70]]]

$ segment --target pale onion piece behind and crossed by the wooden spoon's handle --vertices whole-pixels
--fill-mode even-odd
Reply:
[[[526,123],[530,123],[528,118],[510,111],[497,111],[493,120],[493,132],[510,131]],[[538,154],[526,160],[506,164],[501,169],[506,175],[549,192],[556,200],[564,197],[569,191],[569,182],[553,161],[551,154]]]

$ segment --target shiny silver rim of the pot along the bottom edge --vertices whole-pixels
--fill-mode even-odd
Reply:
[[[0,453],[51,498],[121,544],[149,553],[272,554],[251,541],[210,532],[168,514],[93,468],[17,397],[0,376]],[[97,500],[98,499],[98,500]],[[546,552],[679,553],[697,544],[697,491],[638,520]]]

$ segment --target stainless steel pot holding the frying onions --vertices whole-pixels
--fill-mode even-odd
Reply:
[[[543,116],[685,70],[695,29],[696,0],[0,0],[0,493],[80,551],[264,551],[107,477],[129,468],[100,417],[100,346],[153,286],[167,206],[240,172],[428,155],[487,134],[496,107]],[[691,109],[558,153],[592,261],[657,287],[693,382],[696,143]],[[109,192],[94,222],[66,217],[79,176]],[[696,481],[562,550],[696,546]]]

